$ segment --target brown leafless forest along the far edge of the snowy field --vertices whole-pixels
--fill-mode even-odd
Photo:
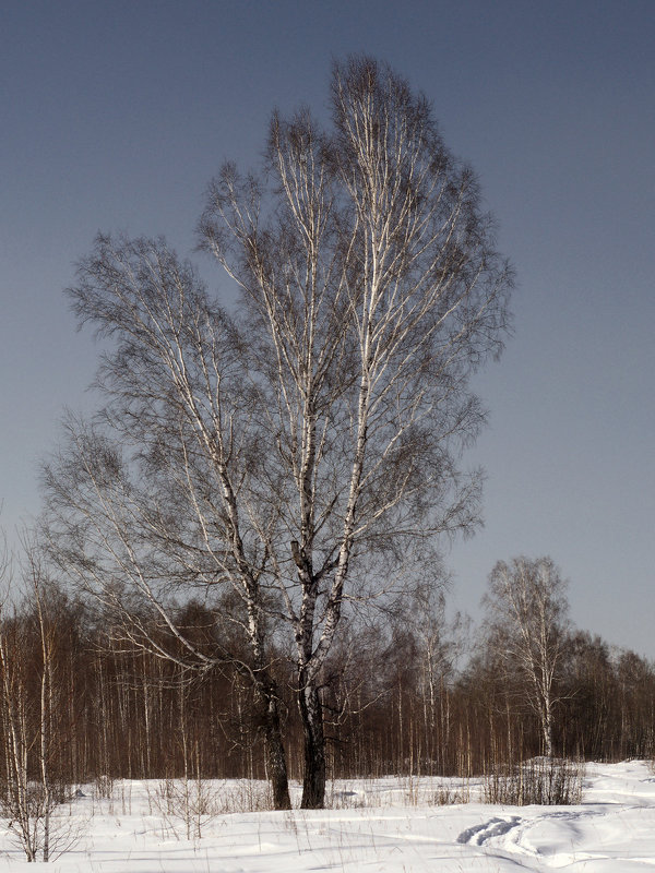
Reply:
[[[35,785],[58,801],[94,780],[270,777],[257,689],[234,665],[198,674],[126,646],[109,615],[35,576],[34,563],[29,573],[27,595],[5,603],[0,619],[4,814],[12,803],[14,818],[21,811],[21,790],[46,809],[50,799]],[[545,753],[653,757],[651,661],[562,629],[548,749],[531,677],[503,667],[507,649],[489,623],[448,620],[442,599],[426,606],[358,626],[332,650],[321,683],[329,778],[473,777]],[[157,638],[162,625],[151,620]],[[176,620],[207,651],[223,623],[198,601],[180,607]],[[281,651],[271,670],[289,776],[301,780],[293,663]]]

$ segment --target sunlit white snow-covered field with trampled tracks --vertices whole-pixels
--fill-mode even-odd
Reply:
[[[201,801],[214,811],[242,809],[258,789],[257,784],[211,784]],[[98,798],[85,787],[84,797],[59,821],[79,828],[76,846],[36,868],[84,873],[655,871],[655,776],[644,762],[587,765],[575,806],[488,805],[478,800],[479,782],[348,781],[333,787],[335,809],[194,815],[189,825],[200,826],[200,839],[187,836],[184,797],[178,790],[159,782],[115,782],[110,798]],[[468,802],[457,803],[457,792]],[[436,797],[455,802],[436,805]],[[196,805],[191,797],[187,809]],[[24,864],[3,832],[0,873]]]

